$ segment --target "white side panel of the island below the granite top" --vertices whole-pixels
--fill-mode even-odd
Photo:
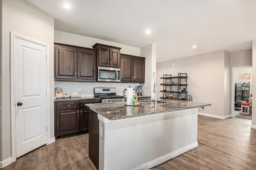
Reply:
[[[98,119],[99,170],[151,168],[198,146],[197,108],[115,121],[98,114]]]

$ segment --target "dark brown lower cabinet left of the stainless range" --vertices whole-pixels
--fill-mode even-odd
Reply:
[[[55,138],[89,132],[89,103],[100,103],[97,100],[54,102]]]

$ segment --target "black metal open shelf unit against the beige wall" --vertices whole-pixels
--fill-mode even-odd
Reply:
[[[163,83],[160,85],[163,86],[163,97],[162,99],[166,99],[169,97],[169,94],[172,95],[172,99],[177,100],[186,100],[187,98],[187,73],[178,73],[178,76],[172,76],[172,74],[164,74],[161,79],[163,79]]]

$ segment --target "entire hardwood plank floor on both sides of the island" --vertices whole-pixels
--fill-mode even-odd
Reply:
[[[247,119],[198,115],[198,147],[152,170],[254,170],[256,129]],[[88,134],[57,139],[2,170],[95,170],[88,158]]]

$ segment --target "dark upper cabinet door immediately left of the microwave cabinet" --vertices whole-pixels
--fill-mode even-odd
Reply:
[[[77,78],[96,81],[96,51],[78,50],[77,60]]]

